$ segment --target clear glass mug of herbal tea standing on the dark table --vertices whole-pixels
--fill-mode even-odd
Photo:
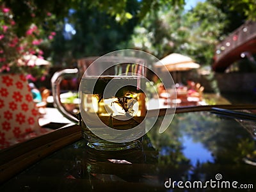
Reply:
[[[148,102],[156,97],[157,88],[152,85],[149,93],[146,84],[152,84],[151,77],[156,74],[148,67],[152,62],[145,57],[148,55],[135,52],[111,52],[96,58],[86,67],[83,65],[83,69],[79,68],[80,74],[84,72],[79,77],[79,125],[91,148],[125,150],[140,147],[143,136],[152,127],[146,127]],[[60,102],[60,81],[77,71],[66,69],[52,77],[54,104],[73,122],[77,122],[77,118],[70,115]],[[154,113],[150,113],[152,125],[159,110],[155,109]]]

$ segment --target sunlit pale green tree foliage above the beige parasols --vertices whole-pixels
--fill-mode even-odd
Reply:
[[[179,52],[209,65],[226,21],[225,14],[207,2],[198,3],[189,12],[177,7],[162,8],[148,13],[136,27],[131,46],[159,58]]]

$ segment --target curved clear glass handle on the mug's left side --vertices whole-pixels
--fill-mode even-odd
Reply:
[[[54,75],[51,78],[51,84],[52,84],[52,97],[53,97],[53,104],[54,107],[60,111],[60,113],[68,118],[68,120],[74,122],[75,124],[79,123],[79,120],[76,118],[76,116],[69,113],[61,104],[60,100],[60,83],[65,77],[76,77],[78,76],[78,69],[77,68],[67,68],[64,70],[61,70],[59,72],[55,72]]]

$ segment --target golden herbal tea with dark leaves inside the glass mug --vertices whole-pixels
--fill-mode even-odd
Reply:
[[[81,113],[86,126],[132,129],[145,117],[145,93],[137,76],[86,77],[81,80]],[[99,121],[100,119],[100,121]]]

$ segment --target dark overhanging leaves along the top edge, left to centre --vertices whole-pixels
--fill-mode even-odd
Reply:
[[[131,19],[131,13],[127,12],[129,4],[127,0],[20,0],[18,2],[16,0],[1,0],[1,2],[12,9],[14,19],[19,25],[19,32],[26,30],[33,22],[40,23],[45,28],[54,28],[58,20],[67,17],[70,9],[83,11],[84,6],[81,4],[86,4],[88,9],[106,12],[121,23]],[[136,10],[135,17],[140,19],[151,9],[156,10],[166,4],[185,4],[184,0],[141,0],[137,2],[140,4],[140,8]],[[51,19],[47,17],[49,14],[52,15]],[[31,15],[33,15],[32,18]]]

